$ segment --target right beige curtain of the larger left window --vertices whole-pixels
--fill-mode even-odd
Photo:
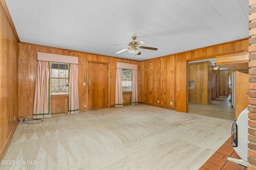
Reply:
[[[68,89],[68,114],[79,113],[78,64],[70,64]]]

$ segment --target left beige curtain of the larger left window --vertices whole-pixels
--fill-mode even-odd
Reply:
[[[38,61],[33,119],[51,117],[49,77],[49,62]]]

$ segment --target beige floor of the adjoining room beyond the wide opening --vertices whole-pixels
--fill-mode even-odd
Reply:
[[[211,104],[188,103],[188,113],[235,121],[235,108],[229,102],[230,96],[220,96]]]

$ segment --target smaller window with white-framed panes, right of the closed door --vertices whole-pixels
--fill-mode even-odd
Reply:
[[[132,69],[122,68],[122,91],[132,91]]]

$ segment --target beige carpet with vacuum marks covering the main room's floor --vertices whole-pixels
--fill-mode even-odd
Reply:
[[[198,170],[232,123],[141,104],[20,122],[0,169]]]

